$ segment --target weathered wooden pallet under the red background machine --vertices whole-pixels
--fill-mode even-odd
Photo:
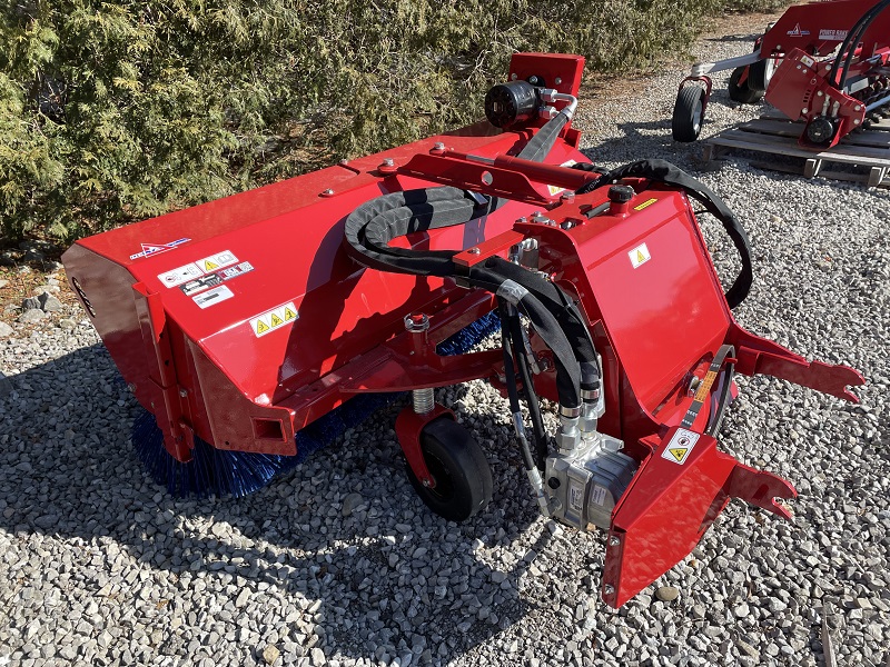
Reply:
[[[844,137],[834,148],[814,152],[801,148],[798,138],[803,123],[791,121],[778,115],[762,116],[736,128],[723,130],[704,142],[705,162],[718,159],[731,149],[741,149],[772,156],[803,158],[799,160],[752,161],[752,167],[773,169],[791,173],[802,173],[807,178],[822,176],[837,180],[863,182],[869,187],[890,188],[890,120],[872,125],[868,130]],[[822,169],[824,163],[842,165],[846,168],[859,167],[868,173],[854,170],[838,171]]]

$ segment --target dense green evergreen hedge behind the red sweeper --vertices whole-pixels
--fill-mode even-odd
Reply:
[[[743,0],[746,9],[781,0]],[[613,71],[728,0],[18,0],[0,237],[70,241],[481,115],[518,50]]]

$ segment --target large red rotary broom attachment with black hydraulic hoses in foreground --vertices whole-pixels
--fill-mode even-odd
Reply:
[[[735,322],[748,238],[716,195],[666,162],[603,173],[577,151],[582,67],[517,54],[486,97],[491,122],[69,249],[73,289],[154,416],[156,477],[179,492],[270,477],[332,415],[411,391],[396,421],[408,479],[465,520],[491,500],[491,470],[433,390],[485,378],[510,399],[541,512],[607,534],[609,605],[685,557],[733,497],[788,518],[793,487],[718,447],[733,374],[848,400],[862,377]],[[742,256],[725,295],[691,199]],[[442,354],[495,312],[501,349]]]

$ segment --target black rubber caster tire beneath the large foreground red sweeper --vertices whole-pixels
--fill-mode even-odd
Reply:
[[[421,450],[436,480],[427,488],[406,466],[408,479],[421,500],[443,519],[465,521],[492,499],[492,469],[473,436],[448,417],[439,417],[421,432]]]

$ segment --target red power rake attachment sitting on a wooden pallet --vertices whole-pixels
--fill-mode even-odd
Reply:
[[[789,8],[749,56],[696,63],[680,83],[672,119],[676,141],[694,141],[711,96],[710,72],[732,69],[730,98],[765,100],[804,122],[800,145],[835,146],[888,113],[888,0],[828,0]]]

